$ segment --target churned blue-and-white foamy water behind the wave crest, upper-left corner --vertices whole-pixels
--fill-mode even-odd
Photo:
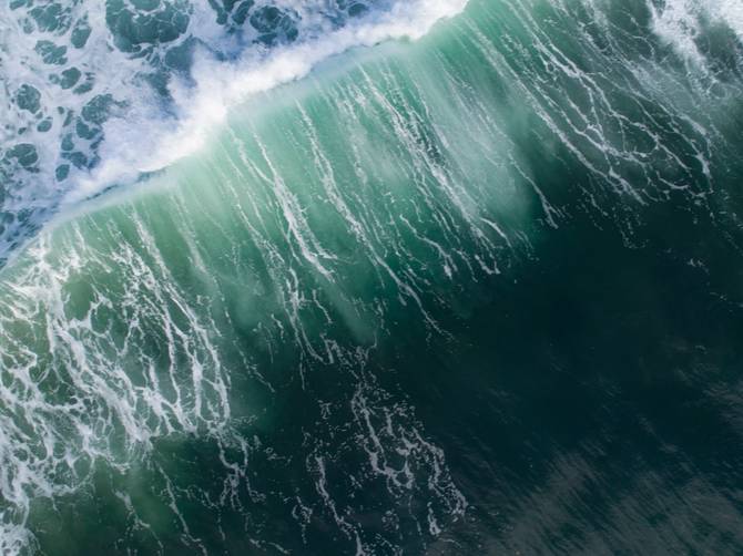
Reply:
[[[0,261],[64,206],[195,152],[251,94],[354,47],[415,40],[466,3],[12,2],[0,11]]]

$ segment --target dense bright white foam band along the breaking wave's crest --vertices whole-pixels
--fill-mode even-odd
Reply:
[[[64,203],[78,203],[114,182],[166,167],[201,148],[210,133],[224,122],[230,107],[251,95],[304,78],[319,62],[352,48],[393,39],[419,39],[440,19],[459,13],[466,3],[467,0],[400,1],[374,18],[235,62],[216,62],[202,51],[192,70],[196,86],[171,86],[177,120],[153,123],[153,109],[146,103],[124,119],[110,120],[104,133],[115,138],[103,145],[103,163],[80,179]]]

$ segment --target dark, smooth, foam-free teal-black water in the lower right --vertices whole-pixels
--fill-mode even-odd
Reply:
[[[462,346],[400,362],[474,506],[465,546],[743,547],[743,264],[704,215],[647,213],[640,247],[586,216],[550,230]]]

